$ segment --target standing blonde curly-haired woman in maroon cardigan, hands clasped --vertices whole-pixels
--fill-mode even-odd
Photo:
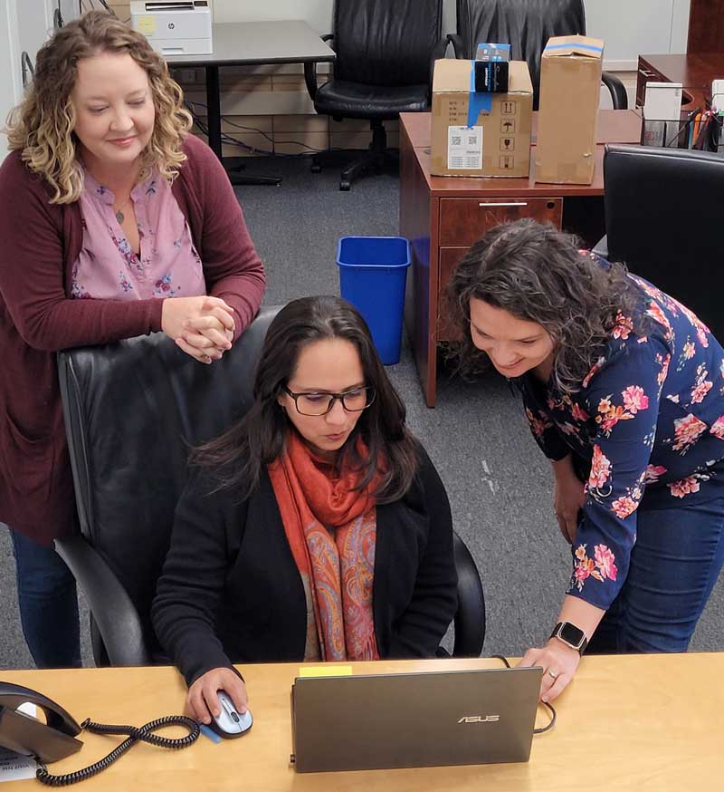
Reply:
[[[264,273],[218,160],[147,39],[105,12],[38,53],[0,168],[0,522],[38,666],[79,665],[75,528],[55,354],[163,331],[199,362],[229,349]],[[122,415],[109,420],[123,420]]]

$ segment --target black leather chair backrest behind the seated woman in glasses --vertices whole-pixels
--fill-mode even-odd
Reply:
[[[262,308],[221,361],[203,365],[163,333],[60,353],[63,411],[81,532],[136,606],[151,656],[150,604],[167,553],[189,449],[252,403]]]

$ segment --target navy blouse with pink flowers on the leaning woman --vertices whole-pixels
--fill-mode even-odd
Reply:
[[[630,277],[642,289],[647,335],[618,314],[576,393],[530,372],[516,381],[548,458],[573,452],[590,463],[567,594],[603,609],[628,573],[644,492],[644,508],[675,507],[707,500],[707,483],[724,476],[724,350],[688,308]]]

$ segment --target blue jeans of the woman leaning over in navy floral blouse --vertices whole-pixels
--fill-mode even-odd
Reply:
[[[628,576],[586,654],[686,652],[724,563],[724,482],[708,486],[703,503],[644,495]]]

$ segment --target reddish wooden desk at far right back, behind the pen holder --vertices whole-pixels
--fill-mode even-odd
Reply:
[[[695,110],[711,97],[711,81],[719,77],[724,77],[724,53],[639,55],[636,106],[643,105],[647,82],[681,82],[681,109]]]

